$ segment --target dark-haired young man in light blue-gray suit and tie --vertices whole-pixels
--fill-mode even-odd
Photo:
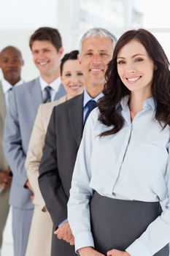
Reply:
[[[13,173],[9,203],[15,256],[25,255],[33,214],[34,195],[26,176],[25,159],[36,111],[42,102],[65,94],[59,78],[63,48],[58,30],[37,29],[30,38],[30,48],[40,77],[12,91],[4,129],[4,152]]]

